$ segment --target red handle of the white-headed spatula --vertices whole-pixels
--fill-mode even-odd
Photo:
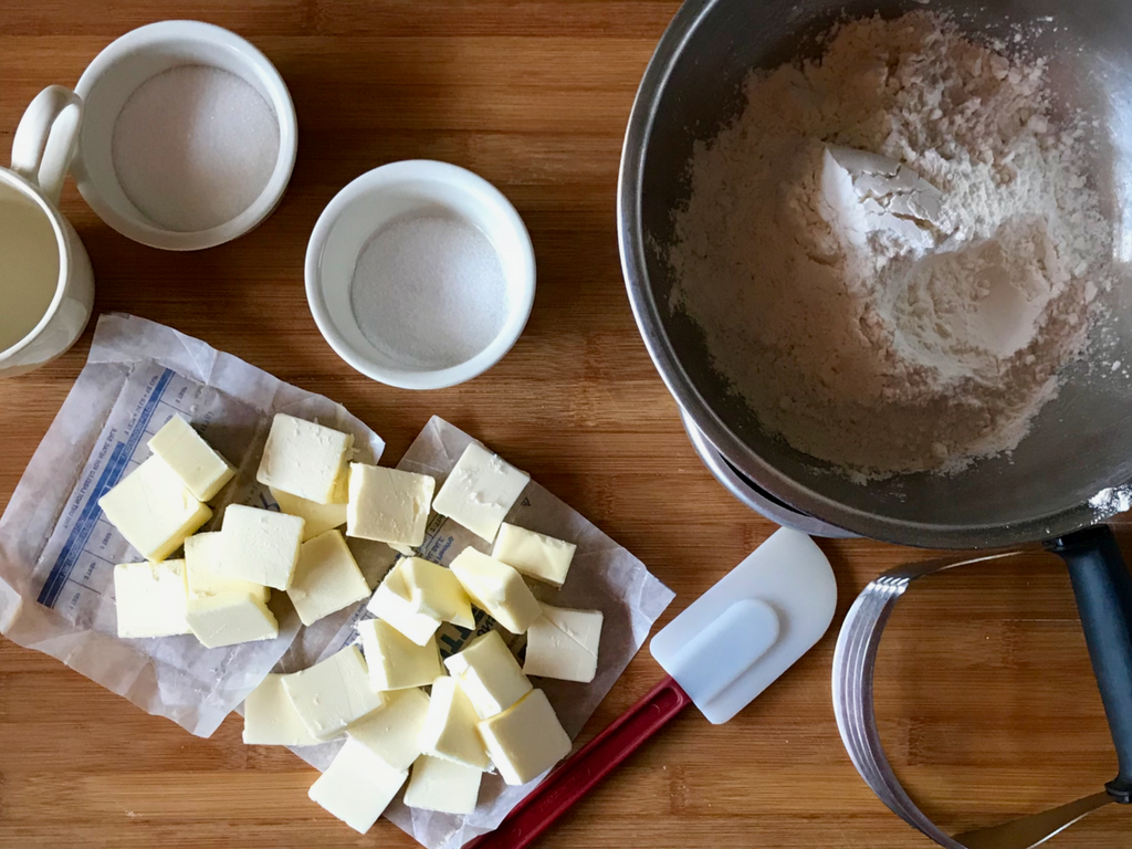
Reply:
[[[688,694],[664,678],[609,728],[551,772],[515,807],[498,829],[464,849],[524,849],[559,816],[612,772],[668,720],[692,704]]]

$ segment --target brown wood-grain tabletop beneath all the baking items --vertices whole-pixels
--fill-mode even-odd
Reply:
[[[683,609],[773,526],[703,470],[636,334],[617,260],[614,192],[636,84],[674,0],[8,0],[0,6],[0,153],[27,102],[74,84],[114,36],[199,18],[251,38],[293,94],[299,161],[259,230],[174,255],[130,242],[68,187],[63,208],[97,276],[98,311],[206,340],[341,401],[395,458],[432,413],[475,434],[585,513],[672,586]],[[307,235],[334,192],[406,157],[455,162],[498,185],[530,226],[534,312],[494,370],[414,394],[345,367],[307,310]],[[82,368],[89,334],[0,384],[0,506]],[[1129,535],[1122,533],[1127,542]],[[921,552],[826,542],[844,614],[885,568]],[[839,621],[840,621],[839,615]],[[724,727],[694,711],[634,756],[547,847],[928,847],[857,777],[830,703],[831,632]],[[660,675],[629,667],[585,736]],[[890,752],[926,809],[976,827],[1096,791],[1115,774],[1064,571],[1035,556],[925,583],[884,646],[878,706]],[[0,641],[0,846],[397,846],[306,798],[285,751],[245,747],[230,720],[190,737],[35,652]],[[1108,809],[1054,847],[1130,847]]]

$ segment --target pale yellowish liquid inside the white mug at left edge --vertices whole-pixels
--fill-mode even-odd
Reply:
[[[35,201],[0,183],[0,353],[35,329],[59,285],[59,243]]]

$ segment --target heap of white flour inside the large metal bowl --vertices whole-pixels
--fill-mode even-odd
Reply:
[[[1089,143],[1045,75],[929,14],[858,20],[821,60],[752,75],[697,143],[671,306],[764,427],[866,477],[1018,445],[1110,256]],[[941,207],[885,206],[832,145],[895,160]]]

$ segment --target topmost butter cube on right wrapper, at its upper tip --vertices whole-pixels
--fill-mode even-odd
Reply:
[[[432,508],[490,542],[530,480],[526,472],[472,443],[440,487]]]

